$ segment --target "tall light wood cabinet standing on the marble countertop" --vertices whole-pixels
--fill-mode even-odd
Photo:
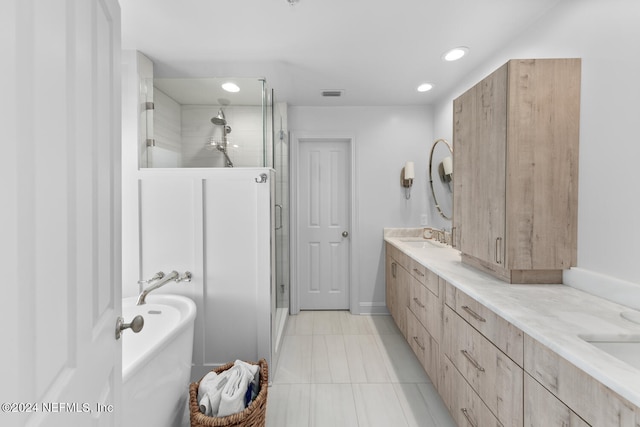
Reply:
[[[454,244],[509,283],[577,252],[580,59],[511,60],[453,102]]]

